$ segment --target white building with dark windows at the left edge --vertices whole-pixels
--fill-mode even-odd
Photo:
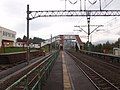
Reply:
[[[16,32],[0,26],[0,47],[13,47],[16,41]]]

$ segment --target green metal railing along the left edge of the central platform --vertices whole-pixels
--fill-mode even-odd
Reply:
[[[15,81],[12,85],[6,88],[6,90],[37,90],[41,89],[41,83],[46,82],[47,77],[52,69],[52,66],[57,59],[59,51],[55,51],[50,57],[46,58],[39,65],[25,74],[23,77]],[[37,79],[37,80],[36,80]],[[36,80],[36,81],[35,81]],[[32,86],[31,86],[32,85]]]

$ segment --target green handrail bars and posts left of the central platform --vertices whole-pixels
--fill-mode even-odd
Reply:
[[[31,71],[29,71],[26,75],[24,75],[23,77],[18,79],[16,82],[14,82],[12,85],[7,87],[6,90],[12,90],[13,88],[15,88],[17,85],[19,85],[24,80],[26,81],[25,89],[29,90],[30,83],[29,83],[28,78],[29,78],[30,74],[34,73],[34,71],[36,71],[36,70],[37,70],[38,80],[32,86],[31,90],[34,90],[36,88],[36,86],[38,86],[38,90],[40,90],[40,81],[42,78],[44,78],[44,80],[46,82],[46,75],[49,74],[52,64],[57,59],[58,54],[59,54],[59,51],[54,52],[51,56],[49,56],[44,61],[42,61],[39,65],[37,65],[35,68],[33,68]],[[48,71],[48,73],[47,73],[47,71]]]

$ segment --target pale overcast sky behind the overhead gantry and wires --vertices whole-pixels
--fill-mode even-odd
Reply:
[[[81,9],[84,10],[84,0]],[[102,9],[120,10],[120,0],[101,0]],[[75,3],[76,2],[76,3]],[[96,2],[96,3],[95,3]],[[110,3],[111,2],[111,3]],[[75,4],[74,4],[75,3]],[[95,4],[91,4],[95,3]],[[110,4],[109,4],[110,3]],[[0,26],[17,32],[17,37],[26,35],[26,10],[65,10],[65,0],[0,0]],[[109,5],[108,5],[109,4]],[[108,5],[107,7],[105,7]],[[66,10],[79,10],[80,0],[67,0]],[[98,9],[99,0],[86,0],[86,9]],[[120,37],[120,17],[91,17],[91,25],[104,25],[104,31],[91,34],[92,42],[116,41]],[[75,25],[87,25],[86,17],[39,17],[30,21],[30,37],[50,38],[59,34],[79,34],[86,42],[87,34],[78,32]],[[82,27],[87,31],[87,27]],[[91,27],[91,31],[95,27]]]

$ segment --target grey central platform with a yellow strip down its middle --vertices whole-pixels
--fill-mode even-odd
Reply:
[[[76,66],[72,58],[61,51],[42,90],[97,90]]]

